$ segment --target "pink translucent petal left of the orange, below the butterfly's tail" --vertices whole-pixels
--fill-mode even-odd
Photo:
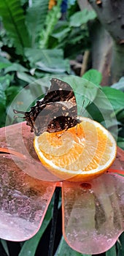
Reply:
[[[16,165],[29,176],[42,181],[59,181],[60,178],[50,173],[39,161],[34,150],[34,134],[30,130],[26,122],[1,128],[0,152],[12,154]]]

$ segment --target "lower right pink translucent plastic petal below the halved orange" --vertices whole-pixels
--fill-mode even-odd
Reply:
[[[63,236],[85,254],[108,250],[124,230],[124,178],[109,173],[88,184],[63,182]]]

